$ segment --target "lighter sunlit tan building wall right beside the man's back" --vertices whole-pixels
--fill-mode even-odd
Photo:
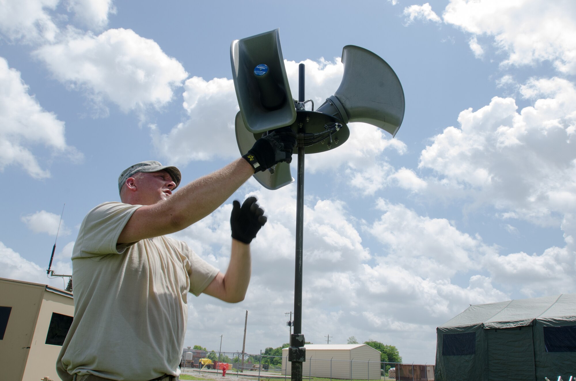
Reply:
[[[44,292],[22,381],[37,381],[45,376],[60,380],[56,374],[56,359],[62,346],[46,344],[52,313],[74,316],[74,299],[49,290]]]

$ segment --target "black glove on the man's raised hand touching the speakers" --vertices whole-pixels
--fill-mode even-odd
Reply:
[[[276,128],[256,140],[252,148],[243,155],[254,172],[264,171],[276,163],[292,161],[292,151],[296,146],[296,134],[290,127]]]

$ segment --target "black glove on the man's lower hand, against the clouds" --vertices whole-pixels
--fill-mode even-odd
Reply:
[[[250,243],[268,220],[263,215],[264,210],[258,207],[256,201],[256,197],[248,197],[242,207],[240,207],[238,200],[234,200],[232,203],[232,215],[230,215],[232,238]]]

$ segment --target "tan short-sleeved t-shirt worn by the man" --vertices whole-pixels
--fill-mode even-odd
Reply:
[[[188,292],[198,296],[218,270],[170,237],[116,245],[141,206],[100,204],[82,221],[72,255],[74,321],[56,361],[64,381],[180,374]]]

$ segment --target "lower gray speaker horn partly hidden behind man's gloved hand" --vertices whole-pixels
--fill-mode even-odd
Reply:
[[[260,138],[262,134],[252,134],[252,132],[248,131],[244,125],[242,114],[240,112],[236,114],[234,125],[234,128],[236,128],[236,143],[238,143],[240,154],[244,155],[250,148],[252,148],[254,143],[256,143],[256,136]],[[294,178],[290,173],[290,164],[287,163],[276,164],[272,171],[265,170],[264,172],[256,172],[254,177],[260,185],[270,190],[276,190],[294,182]]]

